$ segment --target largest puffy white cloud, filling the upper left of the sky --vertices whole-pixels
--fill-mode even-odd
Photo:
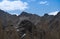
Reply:
[[[25,10],[28,9],[28,3],[22,2],[21,0],[17,1],[8,1],[3,0],[0,2],[0,9],[8,11],[8,10]]]

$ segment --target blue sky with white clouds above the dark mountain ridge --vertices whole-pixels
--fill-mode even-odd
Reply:
[[[0,9],[16,15],[22,11],[40,16],[56,15],[60,11],[60,0],[0,0]]]

